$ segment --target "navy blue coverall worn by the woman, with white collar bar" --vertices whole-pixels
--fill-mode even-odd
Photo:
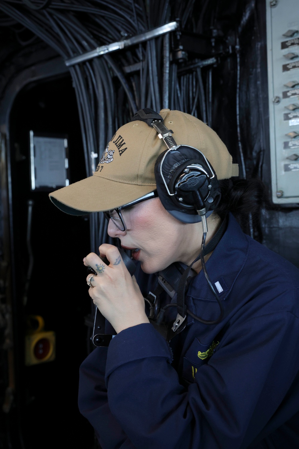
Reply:
[[[219,324],[188,316],[170,344],[140,324],[83,361],[79,409],[103,449],[299,448],[299,271],[232,215],[206,265],[222,289]],[[136,277],[143,295],[153,291],[155,275],[138,269]],[[186,305],[217,318],[203,271]]]

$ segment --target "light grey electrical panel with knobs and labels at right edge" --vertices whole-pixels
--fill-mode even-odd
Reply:
[[[299,202],[299,3],[266,0],[272,200]]]

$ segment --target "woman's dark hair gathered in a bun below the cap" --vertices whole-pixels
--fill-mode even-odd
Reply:
[[[221,200],[215,212],[221,219],[231,212],[243,231],[257,237],[260,229],[260,213],[268,209],[269,194],[263,181],[251,179],[224,179],[219,181]],[[253,235],[253,234],[256,234]]]

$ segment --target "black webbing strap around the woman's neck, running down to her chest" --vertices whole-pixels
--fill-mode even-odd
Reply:
[[[223,220],[222,225],[218,229],[217,233],[208,242],[207,246],[204,247],[204,256],[209,254],[210,252],[214,251],[214,249],[217,247],[218,243],[220,242],[223,234],[225,233],[225,230],[226,230],[226,217]],[[182,274],[182,277],[178,284],[177,309],[178,309],[178,313],[181,315],[181,317],[185,317],[185,315],[186,315],[185,293],[186,293],[187,277],[189,275],[189,271],[191,270],[192,265],[195,264],[195,262],[197,262],[199,259],[200,259],[200,254],[198,255],[198,257],[196,257],[196,259],[192,262],[192,264],[186,268],[186,270]]]

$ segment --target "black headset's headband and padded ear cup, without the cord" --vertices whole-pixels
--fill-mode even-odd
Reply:
[[[141,109],[132,121],[141,120],[155,128],[168,149],[155,164],[157,192],[162,205],[183,223],[197,223],[218,206],[221,192],[216,173],[201,151],[189,145],[177,145],[171,129],[160,114]]]

